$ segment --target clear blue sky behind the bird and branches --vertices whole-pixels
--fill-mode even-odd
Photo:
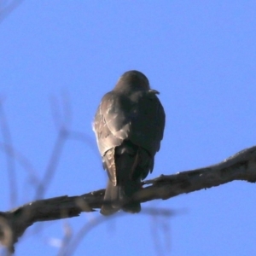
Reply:
[[[16,150],[43,177],[57,136],[50,99],[63,93],[72,129],[87,138],[67,141],[45,198],[105,187],[91,123],[103,94],[130,69],[148,76],[166,109],[149,178],[255,145],[255,63],[255,1],[24,1],[0,23],[0,95]],[[11,207],[3,151],[0,166],[3,211]],[[35,189],[27,170],[19,162],[15,168],[20,206]],[[253,183],[233,182],[145,203],[179,213],[112,219],[91,230],[73,255],[256,255],[255,191]],[[65,224],[75,235],[98,216],[50,222],[38,235],[30,228],[16,255],[57,255],[54,241]]]

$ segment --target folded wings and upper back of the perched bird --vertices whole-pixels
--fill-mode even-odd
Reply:
[[[146,177],[153,170],[154,154],[160,149],[164,127],[165,112],[154,90],[138,91],[130,96],[111,91],[103,96],[96,112],[94,131],[108,177],[113,183],[117,182],[114,148],[129,140],[138,148],[146,149],[151,164],[145,173],[133,173]]]

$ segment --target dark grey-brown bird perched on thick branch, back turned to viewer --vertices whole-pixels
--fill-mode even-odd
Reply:
[[[132,197],[153,172],[166,123],[158,94],[143,73],[131,70],[102,97],[93,122],[102,165],[108,173],[102,215],[141,211],[140,202]]]

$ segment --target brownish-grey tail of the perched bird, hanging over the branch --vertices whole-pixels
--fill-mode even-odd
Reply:
[[[129,201],[131,195],[133,195],[139,186],[133,182],[126,183],[126,186],[114,186],[113,183],[108,180],[108,186],[105,191],[104,202],[102,204],[101,213],[103,215],[111,215],[114,212],[118,212],[123,209],[125,212],[137,213],[141,211],[141,204],[137,201]]]

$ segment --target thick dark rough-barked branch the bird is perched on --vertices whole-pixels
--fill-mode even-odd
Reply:
[[[178,172],[143,182],[132,201],[166,200],[176,195],[208,189],[234,180],[256,182],[256,147],[247,148],[217,165]],[[9,212],[0,212],[0,242],[14,252],[14,244],[27,227],[38,221],[78,217],[102,207],[105,189],[79,196],[33,201]]]

